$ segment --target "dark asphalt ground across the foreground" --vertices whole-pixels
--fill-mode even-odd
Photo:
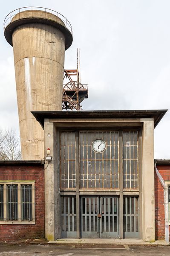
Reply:
[[[123,246],[118,248],[74,248],[59,247],[57,245],[11,245],[0,244],[0,256],[162,256],[170,255],[169,246]]]

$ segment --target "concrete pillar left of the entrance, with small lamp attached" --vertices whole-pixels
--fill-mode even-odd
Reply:
[[[45,238],[54,241],[61,238],[60,134],[49,119],[44,119],[44,140],[45,157],[47,148],[52,156],[44,168]]]

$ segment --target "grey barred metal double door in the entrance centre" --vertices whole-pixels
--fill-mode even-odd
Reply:
[[[118,197],[81,197],[81,237],[118,238]]]

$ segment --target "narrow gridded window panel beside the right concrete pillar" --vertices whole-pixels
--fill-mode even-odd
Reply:
[[[123,131],[124,189],[138,189],[138,131]]]

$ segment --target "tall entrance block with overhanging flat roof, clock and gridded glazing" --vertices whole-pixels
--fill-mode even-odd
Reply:
[[[153,129],[164,113],[33,112],[52,156],[46,239],[155,240]]]

